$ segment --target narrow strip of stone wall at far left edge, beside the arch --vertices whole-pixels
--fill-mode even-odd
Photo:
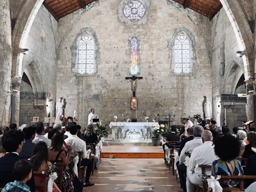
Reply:
[[[12,67],[11,19],[9,0],[0,1],[0,125],[10,122]]]

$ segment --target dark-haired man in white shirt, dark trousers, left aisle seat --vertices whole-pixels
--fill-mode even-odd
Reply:
[[[83,152],[81,165],[87,166],[84,187],[93,186],[94,183],[89,181],[90,175],[92,172],[93,162],[92,160],[86,158],[87,157],[86,143],[84,140],[78,138],[77,136],[78,129],[75,124],[70,124],[69,131],[71,136],[65,139],[66,144],[72,146],[72,150],[75,152]]]

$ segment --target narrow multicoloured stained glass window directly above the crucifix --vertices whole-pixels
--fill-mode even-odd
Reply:
[[[138,53],[138,40],[134,37],[130,43],[130,65],[129,70],[131,75],[137,75],[139,69],[139,53]]]

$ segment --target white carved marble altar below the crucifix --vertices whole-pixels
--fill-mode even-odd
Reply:
[[[151,141],[152,128],[158,122],[110,122],[112,141],[140,142]]]

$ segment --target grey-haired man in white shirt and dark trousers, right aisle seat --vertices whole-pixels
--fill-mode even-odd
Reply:
[[[179,190],[178,192],[186,191],[186,172],[187,172],[187,166],[184,164],[186,155],[185,153],[192,153],[194,148],[200,146],[203,144],[201,134],[204,131],[204,128],[202,126],[195,126],[194,127],[194,139],[186,142],[184,148],[180,152],[180,159],[179,164],[177,166],[177,170],[180,176],[180,188],[183,190]]]

